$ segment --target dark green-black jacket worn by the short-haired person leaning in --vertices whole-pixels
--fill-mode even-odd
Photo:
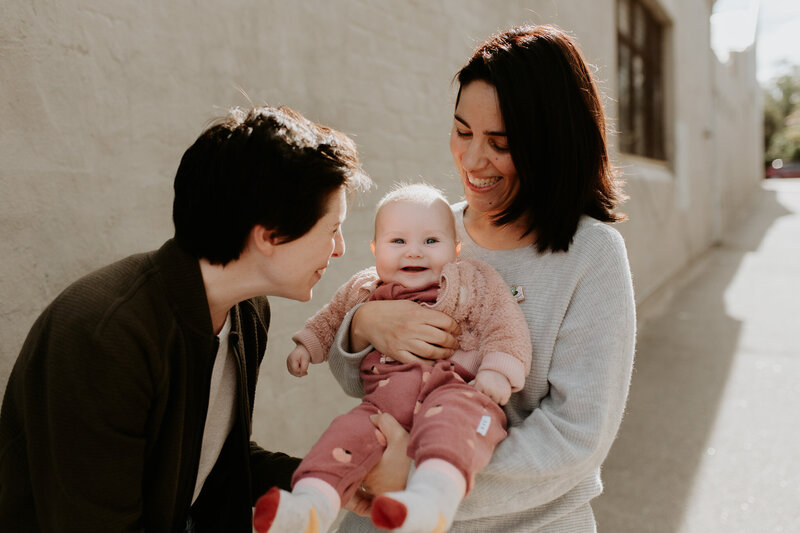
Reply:
[[[234,427],[191,509],[199,533],[251,530],[299,460],[250,442],[266,298],[232,310]],[[168,241],[78,280],[45,309],[0,412],[0,531],[182,531],[218,340],[197,260]]]

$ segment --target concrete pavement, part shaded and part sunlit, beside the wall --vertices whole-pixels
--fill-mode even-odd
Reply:
[[[800,532],[800,180],[640,309],[600,533]]]

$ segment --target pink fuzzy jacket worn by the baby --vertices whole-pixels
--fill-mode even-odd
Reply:
[[[357,272],[292,336],[311,354],[312,363],[327,359],[344,316],[355,305],[367,301],[379,284],[375,267]],[[508,379],[512,391],[522,388],[531,365],[528,324],[508,285],[494,268],[476,259],[445,265],[436,303],[422,305],[446,313],[461,326],[459,349],[452,361],[473,374],[494,370]]]

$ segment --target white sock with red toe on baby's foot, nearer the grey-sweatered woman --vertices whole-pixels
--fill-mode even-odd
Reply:
[[[461,472],[441,459],[423,462],[406,490],[387,492],[372,503],[372,522],[397,533],[440,533],[453,523],[466,493]]]

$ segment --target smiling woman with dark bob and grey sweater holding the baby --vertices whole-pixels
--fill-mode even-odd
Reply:
[[[456,80],[450,151],[465,195],[452,206],[461,256],[491,264],[518,295],[533,362],[504,407],[508,437],[450,531],[593,532],[590,501],[622,419],[636,330],[625,244],[607,224],[624,219],[615,211],[624,196],[600,95],[573,39],[547,25],[491,36]],[[360,396],[358,364],[373,346],[426,364],[454,352],[457,330],[412,302],[367,302],[340,328],[331,368]],[[406,511],[391,530],[407,531],[414,510]],[[374,529],[351,514],[340,531]]]

